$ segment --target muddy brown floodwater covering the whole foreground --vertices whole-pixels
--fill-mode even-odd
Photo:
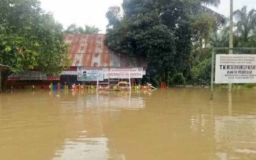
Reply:
[[[0,95],[0,160],[256,159],[256,89]]]

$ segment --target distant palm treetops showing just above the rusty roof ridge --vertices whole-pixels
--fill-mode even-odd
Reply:
[[[95,26],[85,25],[85,28],[83,28],[77,27],[76,24],[71,24],[64,32],[71,34],[97,34],[100,32],[100,29]]]

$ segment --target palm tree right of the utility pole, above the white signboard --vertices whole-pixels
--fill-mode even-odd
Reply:
[[[247,12],[247,6],[234,12],[236,18],[236,34],[244,41],[251,38],[256,25],[256,10]]]

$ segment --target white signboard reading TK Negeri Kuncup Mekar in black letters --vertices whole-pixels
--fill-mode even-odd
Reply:
[[[256,83],[256,55],[217,54],[215,84]]]

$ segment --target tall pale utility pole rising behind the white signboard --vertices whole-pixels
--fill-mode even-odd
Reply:
[[[229,17],[229,48],[233,48],[233,0],[230,0],[230,17]],[[228,51],[233,54],[233,50]],[[232,91],[232,84],[228,84],[228,92]]]

